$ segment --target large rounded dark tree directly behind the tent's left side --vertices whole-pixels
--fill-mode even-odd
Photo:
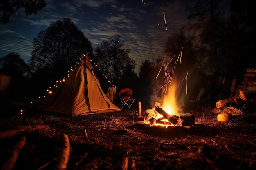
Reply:
[[[91,42],[70,18],[57,20],[40,31],[33,46],[31,67],[34,72],[48,70],[52,80],[62,78],[83,54],[93,55]]]

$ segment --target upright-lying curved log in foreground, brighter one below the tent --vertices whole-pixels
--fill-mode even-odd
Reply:
[[[63,133],[61,137],[61,151],[58,155],[58,159],[57,159],[54,170],[66,170],[69,156],[70,156],[70,141],[68,139],[68,136],[65,133]]]

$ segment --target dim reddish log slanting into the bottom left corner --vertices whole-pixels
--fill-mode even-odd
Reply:
[[[1,170],[13,169],[20,155],[20,150],[22,150],[25,143],[26,143],[26,137],[25,136],[20,137],[19,141],[15,144],[15,146],[13,146],[13,149],[9,152],[10,156],[2,164]]]

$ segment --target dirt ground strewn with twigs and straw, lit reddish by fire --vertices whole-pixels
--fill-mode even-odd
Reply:
[[[0,140],[0,164],[25,136],[13,170],[54,169],[65,133],[70,141],[67,170],[256,169],[255,119],[218,122],[214,105],[194,105],[184,113],[195,116],[195,126],[169,130],[138,126],[146,109],[142,107],[142,117],[136,109],[73,117],[39,113],[4,117],[1,132],[19,131]]]

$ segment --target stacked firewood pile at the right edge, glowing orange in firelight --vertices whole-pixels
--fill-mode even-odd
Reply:
[[[218,100],[216,102],[215,112],[218,113],[241,113],[237,108],[250,109],[256,107],[256,69],[247,69],[241,84],[234,90],[234,96],[228,99]],[[230,103],[231,106],[225,106]],[[236,106],[234,108],[232,106]]]

